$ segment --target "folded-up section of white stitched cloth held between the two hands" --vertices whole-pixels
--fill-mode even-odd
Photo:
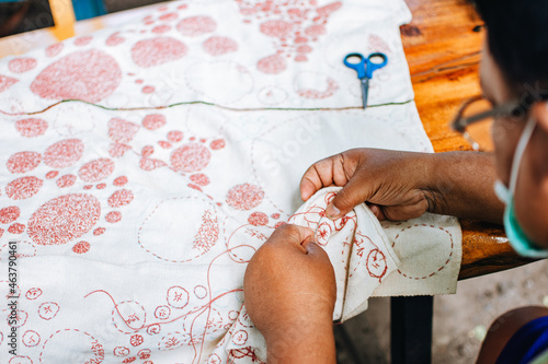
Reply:
[[[336,281],[333,319],[344,321],[367,308],[367,298],[400,262],[377,218],[364,203],[335,221],[326,216],[328,203],[340,190],[319,190],[288,222],[312,228],[317,243],[329,254]]]

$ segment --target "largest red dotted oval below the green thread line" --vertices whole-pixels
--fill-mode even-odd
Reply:
[[[44,203],[28,221],[28,236],[38,245],[61,245],[88,233],[101,215],[101,203],[87,193],[69,193]]]

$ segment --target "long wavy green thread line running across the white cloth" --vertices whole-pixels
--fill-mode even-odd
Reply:
[[[413,102],[413,98],[401,102],[401,103],[386,103],[386,104],[378,104],[378,105],[369,105],[369,107],[383,107],[383,106],[392,106],[392,105],[406,105]],[[43,110],[39,111],[32,111],[32,113],[22,113],[22,114],[11,114],[11,113],[4,113],[7,115],[37,115],[47,111],[48,109],[56,107],[60,104],[64,103],[82,103],[91,106],[95,106],[105,110],[110,111],[136,111],[136,110],[160,110],[164,108],[170,108],[170,107],[175,107],[175,106],[182,106],[182,105],[207,105],[207,106],[214,106],[218,108],[222,108],[225,110],[229,111],[342,111],[342,110],[357,110],[357,109],[363,109],[363,107],[359,106],[349,106],[349,107],[310,107],[310,108],[292,108],[292,107],[260,107],[260,108],[233,108],[233,107],[228,107],[228,106],[222,106],[222,105],[217,105],[214,103],[207,103],[203,101],[195,101],[195,102],[182,102],[182,103],[175,103],[175,104],[170,104],[165,106],[150,106],[150,107],[106,107],[103,105],[98,105],[93,103],[89,103],[82,99],[64,99],[58,103],[55,103],[53,105],[49,105]]]

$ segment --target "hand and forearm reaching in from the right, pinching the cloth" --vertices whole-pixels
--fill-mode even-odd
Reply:
[[[409,220],[424,212],[500,223],[504,206],[493,192],[490,154],[413,153],[353,149],[316,162],[300,180],[308,200],[328,186],[343,186],[326,214],[335,220],[366,202],[379,220]]]

